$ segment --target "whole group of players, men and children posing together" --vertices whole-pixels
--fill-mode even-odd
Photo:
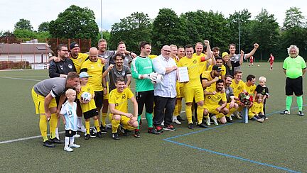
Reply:
[[[63,143],[58,135],[59,116],[65,124],[65,151],[80,147],[74,143],[75,138],[80,137],[77,131],[85,133],[85,140],[102,138],[102,133],[107,133],[108,110],[114,140],[119,140],[119,130],[123,135],[129,135],[134,130],[134,137],[141,137],[144,106],[148,133],[158,135],[163,130],[176,130],[173,123],[184,121],[180,116],[183,98],[190,129],[194,125],[208,128],[210,118],[215,125],[232,122],[234,115],[242,118],[239,112],[243,106],[238,96],[243,91],[255,96],[254,104],[249,106],[249,118],[263,122],[267,119],[264,105],[269,97],[266,78],[259,77],[259,85],[256,86],[256,77],[249,74],[247,82],[242,82],[240,70],[243,60],[254,55],[258,47],[255,43],[251,52],[244,54],[241,50],[237,55],[235,45],[230,44],[230,54],[223,52],[220,57],[220,49],[215,47],[211,51],[208,40],[196,43],[195,53],[192,45],[185,48],[164,45],[158,56],[150,55],[151,45],[148,42],[140,43],[139,56],[127,51],[123,42],[119,42],[117,51],[107,50],[104,39],[99,40],[98,49],[90,48],[88,54],[81,53],[77,43],[70,44],[70,52],[67,45],[58,45],[58,57],[50,58],[50,79],[38,82],[32,89],[36,113],[40,114],[43,145],[55,147],[54,143]],[[188,82],[178,82],[178,67],[188,68]],[[284,65],[287,78],[286,69],[289,67]],[[306,65],[301,67],[305,68]],[[135,96],[129,89],[131,78],[136,82]],[[296,89],[291,88],[291,91],[298,96]],[[291,91],[286,93],[287,96]],[[82,99],[85,93],[90,94],[89,101]],[[128,100],[133,104],[133,113],[128,112]],[[285,114],[289,113],[288,105],[287,109]],[[82,125],[82,116],[85,126]],[[90,128],[90,118],[94,121],[94,129]],[[48,122],[50,139],[47,137]]]

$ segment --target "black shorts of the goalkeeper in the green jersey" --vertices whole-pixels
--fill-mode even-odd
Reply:
[[[153,113],[154,108],[154,90],[136,92],[136,101],[138,102],[138,114],[143,113],[145,104],[146,112]]]

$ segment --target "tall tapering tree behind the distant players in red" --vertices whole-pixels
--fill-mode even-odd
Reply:
[[[260,45],[256,52],[260,60],[262,57],[266,60],[271,52],[276,55],[276,50],[279,48],[279,24],[274,14],[269,14],[266,9],[262,9],[252,23],[252,38],[254,43]]]

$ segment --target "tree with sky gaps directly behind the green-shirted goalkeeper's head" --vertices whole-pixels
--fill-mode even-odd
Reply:
[[[109,40],[109,48],[113,50],[119,41],[124,41],[127,50],[139,52],[141,41],[151,41],[151,19],[148,14],[132,13],[112,25]]]

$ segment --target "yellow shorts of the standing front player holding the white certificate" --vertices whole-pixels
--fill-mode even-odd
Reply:
[[[185,87],[185,103],[192,103],[195,98],[195,102],[203,101],[203,86]]]

